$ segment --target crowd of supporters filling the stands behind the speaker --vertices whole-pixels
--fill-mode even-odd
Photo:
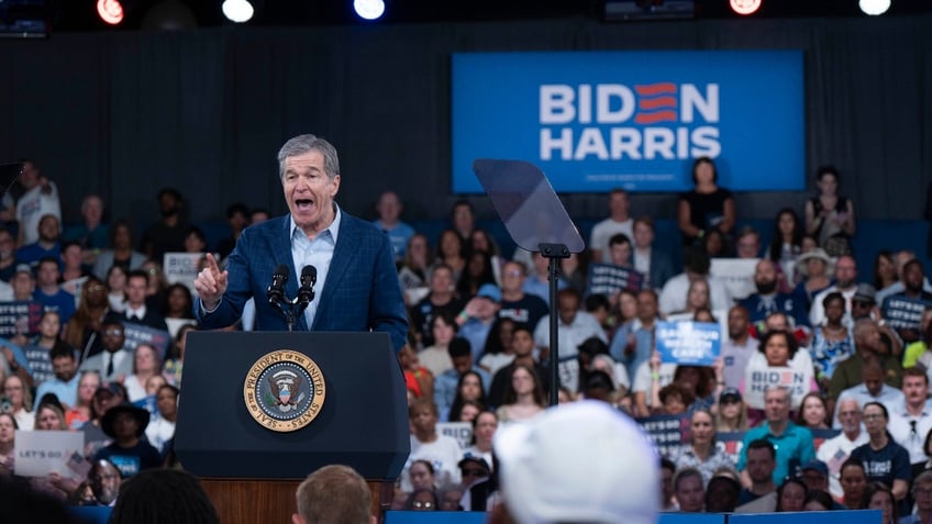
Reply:
[[[0,215],[0,301],[40,308],[32,323],[0,326],[0,476],[15,475],[13,428],[82,432],[87,476],[27,482],[75,503],[112,504],[113,482],[176,465],[185,337],[201,327],[190,288],[167,283],[163,256],[210,252],[222,260],[268,214],[231,205],[229,237],[209,246],[186,220],[181,194],[165,189],[160,216],[138,242],[127,222],[103,221],[97,196],[84,199],[79,223],[62,227],[55,183],[34,163],[23,166]],[[397,508],[490,509],[496,432],[540,417],[556,389],[561,402],[688,421],[683,442],[663,448],[667,511],[880,508],[885,524],[929,522],[932,286],[921,261],[880,250],[873,278],[858,277],[855,209],[833,168],[819,170],[819,192],[801,213],[777,214],[769,245],[761,232],[736,228],[734,198],[718,186],[711,159],[695,161],[692,179],[679,198],[678,238],[657,238],[654,219],[630,216],[630,196],[613,190],[587,250],[561,260],[558,383],[548,372],[548,260],[522,249],[509,257],[476,226],[468,201],[430,238],[401,220],[398,194],[379,197],[375,224],[395,250],[409,313],[399,361],[411,456]],[[683,260],[666,254],[670,243],[681,244]],[[722,258],[753,260],[744,292],[712,274]],[[599,266],[637,278],[593,293]],[[911,309],[888,308],[897,301]],[[656,350],[665,321],[721,325],[714,363],[665,361]],[[131,346],[134,326],[164,331],[173,344]],[[247,309],[226,328],[253,327]],[[769,371],[791,379],[762,386]],[[444,433],[456,423],[471,428],[470,443]],[[717,439],[735,433],[743,436],[730,455]]]

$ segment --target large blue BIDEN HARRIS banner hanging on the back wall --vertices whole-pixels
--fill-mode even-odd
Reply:
[[[453,190],[476,158],[540,166],[556,191],[686,191],[715,160],[734,191],[805,189],[802,52],[453,55]]]

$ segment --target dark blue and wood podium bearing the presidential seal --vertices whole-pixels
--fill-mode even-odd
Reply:
[[[263,395],[251,397],[257,383],[282,369],[290,372],[279,367],[281,355],[307,357],[322,376],[298,380],[301,391],[317,383],[308,394],[322,403],[296,431],[282,428],[300,417],[289,411],[268,423],[278,412],[256,414]],[[276,397],[266,399],[268,405],[273,401]],[[367,480],[373,514],[381,521],[410,454],[404,378],[389,336],[189,333],[175,450],[185,469],[201,478],[224,524],[290,522],[298,484],[331,464],[350,466]]]

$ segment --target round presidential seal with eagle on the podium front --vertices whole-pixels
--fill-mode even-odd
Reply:
[[[291,349],[263,355],[243,384],[249,414],[275,432],[293,432],[310,424],[325,397],[326,383],[318,365]]]

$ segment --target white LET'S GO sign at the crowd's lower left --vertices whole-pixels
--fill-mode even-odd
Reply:
[[[21,477],[45,477],[56,471],[62,477],[77,479],[79,472],[70,464],[82,462],[79,457],[85,448],[81,432],[16,430],[15,473]],[[78,459],[73,460],[74,455]]]

